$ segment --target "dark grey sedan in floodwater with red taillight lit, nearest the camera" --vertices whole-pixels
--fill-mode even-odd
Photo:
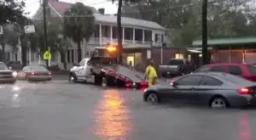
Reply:
[[[224,72],[193,73],[179,77],[170,86],[144,90],[146,102],[200,104],[211,108],[243,107],[256,101],[256,86],[239,76]]]

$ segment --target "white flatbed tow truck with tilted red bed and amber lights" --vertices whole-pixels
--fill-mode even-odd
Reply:
[[[148,82],[143,80],[143,73],[117,63],[116,53],[115,46],[95,48],[90,58],[74,64],[69,72],[69,81],[84,81],[102,87],[148,87]]]

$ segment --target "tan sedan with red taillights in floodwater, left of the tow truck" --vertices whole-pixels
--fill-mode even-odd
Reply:
[[[52,76],[43,65],[27,65],[19,72],[18,78],[27,81],[50,81]]]

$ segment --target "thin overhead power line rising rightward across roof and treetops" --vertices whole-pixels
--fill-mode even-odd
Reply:
[[[212,1],[212,2],[208,2],[208,4],[211,3],[218,3],[218,2],[224,2],[227,0],[216,0],[216,1]],[[143,12],[154,12],[154,11],[159,11],[159,10],[166,10],[166,9],[175,9],[175,8],[183,8],[183,7],[192,7],[192,6],[196,6],[196,5],[201,5],[203,3],[189,3],[189,4],[183,4],[183,5],[178,5],[178,6],[173,6],[170,8],[154,8],[154,9],[149,9],[149,10],[144,10]],[[141,13],[141,11],[133,11],[133,12],[128,12],[125,14],[136,14],[136,13]],[[111,15],[111,14],[110,14]],[[113,14],[112,14],[113,15]],[[116,14],[117,15],[117,14]],[[97,16],[103,16],[102,14],[96,14],[96,15],[63,15],[62,17],[81,17],[81,18],[86,18],[86,17],[97,17]],[[52,16],[51,16],[52,17]],[[57,16],[56,16],[57,17]]]

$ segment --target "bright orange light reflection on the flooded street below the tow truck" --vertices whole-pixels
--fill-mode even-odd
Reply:
[[[106,90],[102,102],[96,109],[95,133],[99,139],[126,139],[131,131],[129,111],[118,90]]]

